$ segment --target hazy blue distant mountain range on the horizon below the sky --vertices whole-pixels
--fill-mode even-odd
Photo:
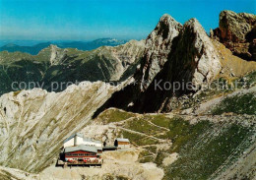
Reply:
[[[17,45],[15,43],[8,43],[2,47],[0,47],[0,51],[7,50],[8,52],[27,52],[32,55],[38,54],[38,52],[48,47],[50,44],[55,44],[58,47],[61,48],[77,48],[79,50],[93,50],[100,46],[116,46],[120,44],[126,43],[127,40],[119,40],[115,38],[98,38],[93,41],[64,41],[64,42],[55,42],[55,41],[49,41],[49,42],[42,42],[38,43],[32,46],[23,46],[23,45]]]

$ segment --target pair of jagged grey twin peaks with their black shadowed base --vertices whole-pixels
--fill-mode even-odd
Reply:
[[[164,29],[164,33],[161,22],[168,27]],[[148,43],[156,41],[153,34],[159,34],[160,39],[168,36],[167,44],[171,45],[160,40],[158,42],[161,44],[157,43],[158,46],[146,49],[134,82],[124,90],[115,92],[105,107],[121,107],[139,112],[170,111],[173,97],[196,92],[201,89],[202,84],[211,83],[219,75],[219,54],[196,19],[191,19],[181,27],[164,15],[157,28],[149,35]],[[160,58],[154,57],[154,54],[162,52],[166,54],[163,53]],[[175,90],[174,84],[180,86],[178,90]],[[182,88],[181,84],[188,86]]]

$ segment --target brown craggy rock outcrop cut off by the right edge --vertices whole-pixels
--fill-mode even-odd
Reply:
[[[256,61],[256,15],[223,11],[220,14],[220,27],[212,36],[219,39],[233,54]]]

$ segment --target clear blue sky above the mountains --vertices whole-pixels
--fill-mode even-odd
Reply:
[[[141,39],[165,13],[209,31],[222,10],[256,14],[256,0],[0,0],[0,39]]]

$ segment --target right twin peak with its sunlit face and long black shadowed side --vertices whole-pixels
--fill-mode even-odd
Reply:
[[[191,19],[173,42],[160,73],[131,108],[143,112],[170,111],[173,97],[200,90],[202,84],[211,83],[220,70],[221,62],[215,46],[199,22]],[[173,87],[177,83],[180,88]],[[182,83],[190,87],[182,88]]]

